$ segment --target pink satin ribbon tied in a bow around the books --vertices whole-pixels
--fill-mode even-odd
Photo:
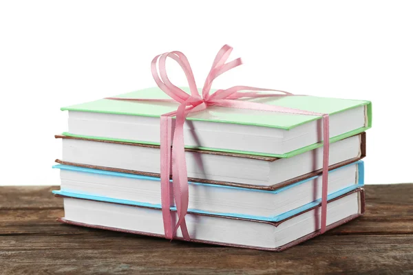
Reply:
[[[279,96],[294,96],[286,91],[273,89],[260,89],[248,86],[234,86],[229,89],[219,89],[213,94],[209,94],[213,80],[242,64],[241,58],[226,63],[229,54],[233,50],[229,45],[224,45],[218,52],[213,61],[211,70],[205,80],[202,88],[202,95],[199,94],[195,84],[195,78],[187,57],[182,52],[167,52],[153,58],[151,63],[151,72],[153,79],[162,91],[165,92],[172,100],[168,99],[142,99],[142,98],[107,98],[112,100],[127,100],[127,101],[154,101],[154,102],[178,102],[179,106],[176,111],[165,113],[160,117],[160,182],[161,182],[161,201],[162,201],[162,217],[165,229],[165,238],[173,239],[178,228],[181,228],[182,236],[186,240],[190,240],[187,230],[185,215],[188,210],[189,192],[188,192],[188,176],[187,163],[184,152],[184,121],[189,113],[194,111],[202,111],[210,106],[220,106],[238,109],[249,109],[258,111],[273,111],[280,113],[293,113],[299,115],[317,115],[323,120],[323,170],[322,170],[322,195],[321,195],[321,233],[326,231],[326,216],[327,216],[327,195],[328,195],[328,155],[329,155],[329,116],[326,113],[315,113],[313,111],[304,111],[287,107],[274,106],[264,103],[249,102],[239,100],[240,98],[269,98]],[[187,94],[182,89],[171,83],[167,76],[166,60],[172,58],[176,61],[187,76],[189,89],[191,94]],[[158,63],[158,67],[157,67]],[[158,73],[159,71],[159,73]],[[241,92],[244,91],[244,92]],[[246,92],[245,92],[246,91]],[[260,91],[277,91],[282,94],[261,94]],[[176,117],[175,130],[172,137],[172,117]],[[171,151],[172,147],[172,151]],[[172,168],[173,179],[173,197],[176,202],[178,212],[178,222],[173,226],[171,219],[171,190],[169,188],[169,179]]]

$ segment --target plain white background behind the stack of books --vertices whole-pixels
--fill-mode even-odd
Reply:
[[[154,86],[171,50],[202,85],[225,43],[245,64],[215,87],[372,100],[366,183],[412,182],[412,3],[0,1],[0,185],[59,184],[60,107]]]

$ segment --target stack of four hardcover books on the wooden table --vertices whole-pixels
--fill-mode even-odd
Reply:
[[[167,98],[158,88],[118,98]],[[330,114],[327,230],[363,214],[363,162],[371,103],[286,96],[255,100]],[[160,115],[173,102],[100,99],[62,108],[56,135],[63,223],[165,236],[160,192]],[[321,118],[209,107],[184,124],[191,241],[284,250],[317,236],[321,223]],[[173,164],[172,164],[173,165]],[[170,182],[173,188],[173,182]],[[178,220],[171,199],[173,222]],[[174,239],[182,239],[180,229]]]

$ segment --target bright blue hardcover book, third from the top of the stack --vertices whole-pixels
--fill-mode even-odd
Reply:
[[[55,194],[121,201],[134,206],[161,208],[160,179],[77,166],[56,165],[61,170],[61,190]],[[321,201],[322,176],[310,177],[275,190],[256,190],[189,182],[189,211],[225,217],[280,221]],[[171,189],[173,181],[171,180]],[[363,162],[330,170],[328,199],[335,199],[364,184]],[[171,207],[175,204],[171,200]]]

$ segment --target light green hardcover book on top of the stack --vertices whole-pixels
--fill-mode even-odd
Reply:
[[[159,88],[143,89],[116,98],[168,98]],[[253,102],[330,114],[330,142],[369,129],[371,102],[285,96]],[[160,142],[160,115],[175,111],[174,102],[131,102],[100,99],[64,107],[69,131],[64,135],[100,140],[156,144]],[[253,111],[211,106],[190,113],[184,124],[187,148],[292,157],[322,146],[321,118],[315,115]]]

